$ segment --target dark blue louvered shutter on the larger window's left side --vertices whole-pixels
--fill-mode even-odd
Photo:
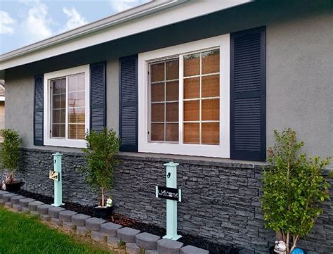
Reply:
[[[120,151],[138,151],[138,56],[119,59]]]

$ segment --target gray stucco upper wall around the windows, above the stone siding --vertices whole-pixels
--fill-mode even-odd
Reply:
[[[242,8],[245,8],[242,6]],[[273,8],[273,7],[272,7]],[[310,8],[310,7],[309,7]],[[231,24],[229,30],[222,27],[218,33],[205,30],[207,20],[202,21],[202,37],[214,36],[230,32],[237,28],[246,29],[253,26],[266,25],[267,33],[267,146],[273,145],[273,129],[292,127],[305,141],[309,154],[327,157],[333,155],[333,39],[332,11],[296,13],[281,20],[268,18],[263,14],[261,19],[252,18],[252,24]],[[244,9],[244,15],[250,11]],[[247,14],[247,11],[249,12]],[[275,9],[279,13],[278,8]],[[260,11],[259,11],[260,12]],[[282,15],[279,13],[279,15]],[[228,18],[216,15],[221,21]],[[206,18],[206,17],[204,17]],[[206,18],[207,19],[207,18]],[[219,20],[216,21],[218,23]],[[239,22],[239,21],[237,21]],[[214,27],[213,24],[209,24]],[[178,30],[177,34],[186,32],[187,25]],[[235,27],[234,27],[235,26]],[[163,28],[166,29],[166,28]],[[207,34],[205,34],[205,32]],[[159,32],[153,34],[155,37]],[[170,36],[169,44],[176,44],[176,39]],[[185,36],[187,40],[190,36]],[[192,39],[200,39],[194,37]],[[136,35],[134,38],[103,44],[91,49],[92,53],[78,51],[68,56],[71,61],[61,61],[61,64],[46,64],[43,68],[37,65],[21,69],[22,72],[8,72],[6,75],[6,127],[18,129],[22,134],[23,146],[33,148],[32,113],[33,113],[33,74],[34,71],[50,72],[74,65],[100,61],[98,57],[107,60],[107,126],[118,131],[119,128],[119,68],[118,59],[131,53],[148,51],[169,46],[168,39],[157,37],[151,44],[151,34]],[[185,39],[183,39],[184,41]],[[178,39],[178,43],[181,43]],[[131,46],[129,46],[131,45]],[[105,50],[107,49],[107,50]],[[65,59],[65,58],[64,58]],[[81,62],[78,62],[81,59]],[[67,60],[67,59],[66,59]],[[57,63],[57,61],[55,61]],[[63,66],[63,67],[61,67]],[[15,73],[15,75],[14,75]],[[39,147],[48,149],[49,147]],[[56,148],[55,148],[56,149]],[[77,149],[61,148],[62,151],[78,151]],[[330,165],[332,167],[332,165]]]

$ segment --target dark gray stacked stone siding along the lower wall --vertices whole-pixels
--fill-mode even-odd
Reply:
[[[23,189],[53,196],[53,182],[48,170],[53,168],[52,151],[23,151],[20,179]],[[84,182],[79,167],[81,154],[63,155],[63,199],[84,205],[98,201],[96,193]],[[165,227],[165,200],[155,198],[155,186],[165,185],[163,164],[171,159],[121,156],[115,170],[112,191],[115,212],[145,223]],[[183,201],[178,203],[178,229],[183,234],[202,236],[215,243],[234,245],[268,253],[274,234],[263,227],[259,196],[261,166],[238,163],[216,163],[199,160],[175,160],[178,187]],[[333,186],[333,180],[329,179]],[[333,188],[330,190],[333,199]],[[333,203],[324,203],[324,213],[313,233],[300,246],[314,253],[333,253]]]

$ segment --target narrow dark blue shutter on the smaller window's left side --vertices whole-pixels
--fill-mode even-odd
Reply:
[[[44,145],[44,75],[34,77],[34,145]]]

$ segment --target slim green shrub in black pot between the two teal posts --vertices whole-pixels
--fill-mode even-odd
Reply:
[[[94,208],[94,216],[106,218],[112,214],[112,199],[105,203],[105,193],[110,191],[114,184],[113,170],[119,164],[115,155],[119,151],[120,140],[113,129],[104,128],[100,132],[86,133],[86,181],[92,189],[100,191],[100,204]]]

